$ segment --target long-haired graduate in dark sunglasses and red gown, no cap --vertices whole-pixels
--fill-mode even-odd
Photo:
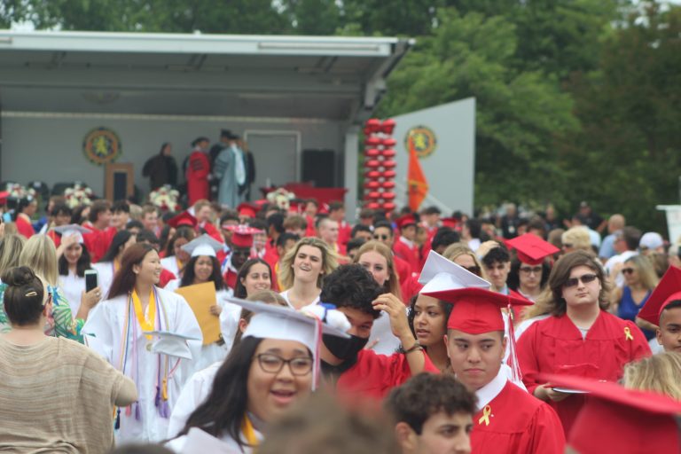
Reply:
[[[622,378],[624,364],[650,356],[646,336],[630,320],[607,312],[609,286],[591,254],[563,255],[549,276],[550,317],[536,321],[518,340],[522,381],[528,392],[549,403],[569,434],[584,396],[559,390],[539,374],[595,380]]]

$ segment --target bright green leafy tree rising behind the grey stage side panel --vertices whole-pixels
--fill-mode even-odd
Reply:
[[[515,27],[499,16],[442,9],[433,37],[388,80],[381,116],[475,97],[475,205],[517,200],[567,202],[554,138],[577,127],[556,78],[513,67]]]

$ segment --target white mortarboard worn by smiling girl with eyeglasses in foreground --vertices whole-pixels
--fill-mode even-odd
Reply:
[[[327,309],[322,304],[309,306],[305,310],[295,310],[260,301],[240,300],[239,298],[227,298],[226,301],[253,312],[253,317],[251,317],[251,321],[241,336],[242,339],[256,337],[295,340],[309,348],[316,364],[312,380],[313,389],[318,380],[319,347],[322,334],[346,339],[350,337],[346,332],[351,325],[345,314],[340,310]]]

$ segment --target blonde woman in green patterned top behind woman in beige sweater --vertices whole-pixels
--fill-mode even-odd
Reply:
[[[73,317],[71,307],[59,288],[59,265],[54,241],[43,234],[27,239],[19,256],[19,265],[27,266],[35,272],[47,284],[47,291],[51,294],[52,310],[47,318],[45,334],[82,342],[81,329],[87,318],[85,310],[89,311],[91,308],[82,305],[82,309]]]

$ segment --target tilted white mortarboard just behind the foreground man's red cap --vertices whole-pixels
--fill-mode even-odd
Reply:
[[[491,286],[485,279],[447,260],[434,250],[428,253],[426,263],[424,263],[423,270],[419,275],[419,284],[424,285],[419,292],[420,294],[467,287],[488,290]]]

